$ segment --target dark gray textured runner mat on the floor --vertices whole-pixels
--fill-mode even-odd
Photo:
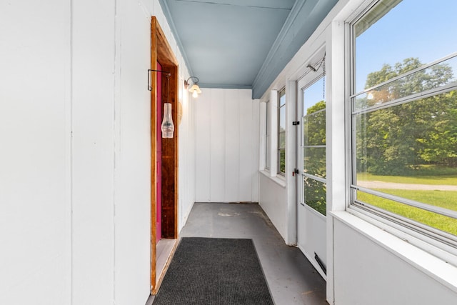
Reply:
[[[273,304],[251,239],[184,237],[154,305]]]

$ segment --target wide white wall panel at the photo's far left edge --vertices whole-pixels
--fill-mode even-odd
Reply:
[[[69,302],[69,16],[0,2],[0,304]]]

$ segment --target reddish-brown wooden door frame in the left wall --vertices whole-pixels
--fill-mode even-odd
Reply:
[[[166,40],[159,21],[151,17],[151,68],[156,69],[157,62],[164,71],[171,73],[169,79],[168,102],[171,103],[171,117],[175,124],[172,139],[162,139],[162,236],[166,239],[178,238],[178,104],[179,76],[178,61],[169,42]],[[161,74],[159,74],[161,75]],[[156,130],[157,122],[157,76],[151,72],[151,293],[156,291]],[[166,82],[162,82],[162,101],[166,101]]]

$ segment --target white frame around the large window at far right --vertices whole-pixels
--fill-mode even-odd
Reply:
[[[356,73],[355,73],[355,61],[356,61],[356,37],[355,37],[355,29],[354,24],[357,21],[366,16],[374,6],[376,6],[382,0],[376,1],[367,1],[366,6],[364,8],[359,8],[350,16],[347,21],[345,22],[345,40],[346,40],[346,51],[348,52],[348,56],[346,56],[346,76],[348,76],[348,82],[346,83],[347,95],[346,95],[346,117],[347,117],[347,126],[346,126],[346,137],[348,139],[348,166],[347,174],[348,174],[348,182],[347,182],[347,191],[348,191],[348,204],[346,205],[346,211],[351,212],[356,216],[359,216],[366,221],[370,221],[378,226],[381,226],[386,231],[395,234],[396,236],[400,236],[404,240],[408,240],[411,244],[421,247],[421,249],[425,249],[426,251],[434,254],[438,257],[446,259],[450,261],[452,264],[457,266],[457,236],[453,234],[449,234],[445,231],[441,231],[439,229],[435,229],[431,226],[426,224],[421,224],[413,219],[408,219],[405,216],[401,216],[399,214],[394,214],[393,212],[383,210],[381,208],[377,208],[376,206],[361,204],[360,202],[356,202],[355,193],[358,189],[358,186],[353,184],[353,177],[356,174],[356,162],[355,162],[355,129],[354,129],[354,122],[353,122],[353,99],[356,98],[362,91],[356,92]],[[382,17],[381,17],[382,18]],[[433,61],[430,64],[426,64],[423,66],[432,66],[433,64],[438,63],[438,61],[443,59],[438,59]],[[420,69],[423,69],[423,66]],[[418,69],[416,69],[418,70]],[[456,71],[457,72],[457,71]],[[413,71],[406,72],[405,74],[401,74],[396,79],[403,77],[407,74],[412,74]],[[393,81],[390,79],[388,82]],[[385,83],[383,83],[385,84]],[[375,87],[382,86],[383,84],[378,84]],[[372,90],[374,87],[366,89],[364,91]],[[437,96],[439,94],[444,94],[449,91],[457,90],[457,85],[452,85],[451,88],[449,86],[443,86],[438,89],[432,90],[433,92],[429,93],[429,96]],[[428,91],[427,91],[428,92]],[[423,92],[417,94],[410,94],[406,96],[405,103],[413,102],[420,100],[423,98]],[[387,107],[396,106],[396,103],[387,103],[389,104]],[[372,109],[370,111],[373,111]],[[359,113],[361,111],[358,111]],[[376,191],[375,191],[376,192]],[[395,197],[395,196],[393,196]],[[408,200],[408,199],[406,199]],[[401,204],[404,202],[397,201]],[[424,203],[423,203],[424,204]],[[430,204],[424,204],[428,206],[432,206]],[[412,205],[414,206],[414,205]],[[431,211],[429,209],[428,211]],[[436,213],[436,211],[432,211]],[[437,213],[439,214],[439,213]]]

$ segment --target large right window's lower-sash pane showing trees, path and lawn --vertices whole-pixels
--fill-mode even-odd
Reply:
[[[457,210],[457,91],[358,114],[354,123],[353,184]]]

